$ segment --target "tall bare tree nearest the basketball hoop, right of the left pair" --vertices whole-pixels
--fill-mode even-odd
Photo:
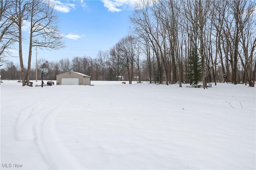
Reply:
[[[44,47],[46,49],[59,49],[64,47],[61,41],[63,35],[58,30],[58,16],[54,14],[53,4],[50,1],[28,1],[30,20],[30,40],[28,53],[28,70],[26,82],[29,84],[32,47]]]

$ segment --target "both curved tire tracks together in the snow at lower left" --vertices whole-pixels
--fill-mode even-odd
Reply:
[[[84,169],[58,139],[54,119],[60,103],[46,109],[42,103],[33,103],[22,109],[14,128],[16,140],[33,140],[50,169]]]

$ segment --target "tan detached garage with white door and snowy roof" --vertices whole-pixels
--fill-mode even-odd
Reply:
[[[85,74],[68,71],[56,75],[57,84],[59,85],[90,85],[91,77]]]

